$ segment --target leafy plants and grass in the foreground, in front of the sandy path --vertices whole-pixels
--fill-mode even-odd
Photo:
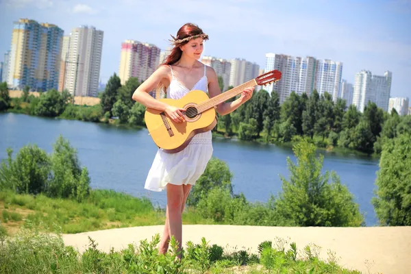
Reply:
[[[158,254],[160,236],[130,243],[127,248],[105,253],[89,237],[84,253],[64,246],[60,236],[23,229],[8,238],[0,225],[0,273],[360,273],[338,266],[329,253],[321,260],[315,246],[297,249],[294,242],[286,245],[275,239],[258,245],[258,252],[246,249],[228,251],[219,245],[187,242],[182,260],[175,260],[177,245],[171,239],[169,253]]]

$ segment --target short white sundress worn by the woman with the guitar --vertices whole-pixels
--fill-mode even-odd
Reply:
[[[171,69],[171,75],[173,79],[166,93],[167,98],[179,99],[191,90],[203,90],[204,92],[208,90],[206,65],[204,65],[203,77],[191,90],[175,79],[173,69]],[[147,175],[145,189],[160,192],[166,188],[166,184],[194,185],[206,169],[212,157],[212,151],[211,131],[196,134],[188,146],[177,153],[165,153],[163,149],[158,149]]]

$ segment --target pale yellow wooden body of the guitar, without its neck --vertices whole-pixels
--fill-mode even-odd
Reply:
[[[197,114],[196,110],[197,105],[209,99],[202,90],[192,90],[180,99],[159,99],[186,110],[186,121],[181,123],[175,123],[165,112],[147,108],[145,123],[155,145],[164,149],[166,153],[177,153],[187,147],[195,134],[213,129],[217,124],[216,110],[210,108],[200,114]]]

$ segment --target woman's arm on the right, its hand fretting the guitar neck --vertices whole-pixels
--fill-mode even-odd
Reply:
[[[212,67],[210,66],[207,66],[207,78],[209,79],[208,93],[210,94],[210,97],[212,98],[214,96],[221,94],[221,89],[219,86],[219,78],[217,77],[214,69],[212,69]],[[219,105],[217,105],[216,111],[219,112],[220,115],[225,115],[225,114],[229,114],[233,112],[240,105],[247,102],[251,98],[251,96],[253,96],[253,90],[254,90],[254,87],[245,88],[245,90],[242,90],[240,98],[232,102],[220,103]]]

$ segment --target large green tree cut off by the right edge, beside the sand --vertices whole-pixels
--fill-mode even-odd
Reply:
[[[411,225],[411,134],[383,145],[372,203],[381,225]]]

